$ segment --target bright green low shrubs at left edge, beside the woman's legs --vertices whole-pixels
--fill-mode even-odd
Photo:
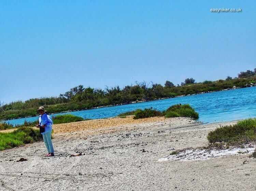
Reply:
[[[42,140],[39,130],[21,127],[11,133],[0,133],[0,150]]]

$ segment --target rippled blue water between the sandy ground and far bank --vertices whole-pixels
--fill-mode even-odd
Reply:
[[[256,117],[256,87],[218,91],[185,97],[170,98],[165,100],[142,102],[136,104],[103,107],[83,111],[73,111],[65,114],[73,114],[83,118],[100,119],[114,117],[126,111],[138,108],[150,108],[164,110],[169,106],[182,103],[190,104],[199,113],[199,121],[204,123],[240,120]],[[64,114],[54,114],[64,115]],[[38,117],[8,120],[12,124],[23,124],[24,121],[35,121]]]

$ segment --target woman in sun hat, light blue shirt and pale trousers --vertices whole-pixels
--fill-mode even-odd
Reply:
[[[40,133],[43,135],[44,144],[48,151],[48,154],[45,156],[52,157],[54,156],[53,143],[52,143],[52,118],[46,114],[44,107],[39,107],[39,124],[37,127],[40,128]]]

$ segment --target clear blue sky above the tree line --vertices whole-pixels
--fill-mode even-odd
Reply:
[[[256,68],[256,1],[0,1],[0,101]],[[211,13],[242,8],[242,13]]]

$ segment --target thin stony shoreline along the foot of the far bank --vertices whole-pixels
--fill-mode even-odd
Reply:
[[[255,86],[251,86],[251,87],[255,87]],[[213,92],[219,92],[219,91],[242,89],[242,88],[250,88],[250,87],[227,88],[227,89],[222,89],[222,90],[218,90],[218,91],[207,91],[207,92],[200,92],[200,93],[188,94],[188,95],[178,95],[178,96],[175,96],[175,97],[166,97],[166,98],[159,98],[159,99],[153,99],[153,100],[137,100],[137,101],[133,101],[133,102],[129,102],[129,103],[120,103],[120,104],[115,104],[115,105],[98,106],[98,107],[93,107],[93,108],[89,108],[89,109],[67,110],[67,111],[62,111],[62,112],[57,112],[57,113],[51,113],[49,115],[64,114],[64,113],[67,113],[67,112],[74,112],[74,111],[85,111],[85,110],[90,110],[90,109],[99,109],[99,108],[104,108],[104,107],[114,107],[114,106],[120,106],[120,105],[136,104],[136,103],[142,103],[142,102],[151,102],[151,101],[158,101],[158,100],[172,99],[172,98],[178,98],[178,97],[186,97],[186,96],[191,96],[191,95],[199,95],[199,94],[213,93]],[[5,121],[15,120],[15,119],[25,119],[25,118],[37,117],[37,116],[38,115],[12,118],[12,119],[0,119],[0,122],[5,122]]]

